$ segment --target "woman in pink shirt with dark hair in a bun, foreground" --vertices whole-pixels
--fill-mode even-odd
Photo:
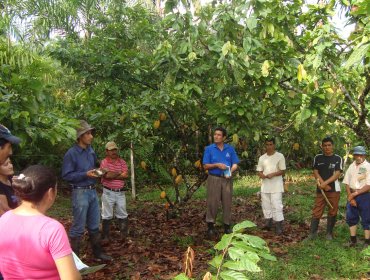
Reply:
[[[13,177],[21,204],[0,218],[0,272],[4,279],[81,279],[62,224],[45,216],[57,195],[54,172],[41,165]]]

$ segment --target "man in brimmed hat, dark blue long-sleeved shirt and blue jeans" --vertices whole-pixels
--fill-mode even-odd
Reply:
[[[80,121],[77,143],[64,155],[62,177],[72,187],[73,223],[69,237],[73,251],[79,254],[81,238],[87,226],[95,258],[107,261],[112,258],[103,254],[99,236],[100,208],[95,190],[98,178],[95,167],[98,162],[91,147],[93,130],[86,121]]]

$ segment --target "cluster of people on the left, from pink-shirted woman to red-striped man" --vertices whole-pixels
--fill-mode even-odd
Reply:
[[[128,168],[114,142],[106,144],[106,157],[99,166],[91,147],[93,130],[81,121],[76,144],[63,159],[62,178],[72,189],[73,223],[68,238],[63,225],[46,216],[57,195],[57,176],[42,165],[30,166],[13,176],[12,144],[21,140],[0,125],[0,279],[81,279],[72,252],[79,255],[85,227],[94,257],[112,260],[102,251],[100,216],[106,240],[114,214],[123,237],[126,235],[124,180]],[[95,189],[98,181],[104,187],[102,212]]]

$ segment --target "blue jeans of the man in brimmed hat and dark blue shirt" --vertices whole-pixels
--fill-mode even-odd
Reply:
[[[89,234],[99,232],[100,208],[96,190],[74,189],[72,191],[73,223],[69,236],[81,237],[85,227]]]

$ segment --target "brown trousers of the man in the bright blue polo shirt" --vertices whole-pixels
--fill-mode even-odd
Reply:
[[[214,223],[217,210],[222,204],[223,222],[231,223],[231,204],[233,196],[233,181],[222,177],[208,175],[207,179],[207,214],[206,222]]]

